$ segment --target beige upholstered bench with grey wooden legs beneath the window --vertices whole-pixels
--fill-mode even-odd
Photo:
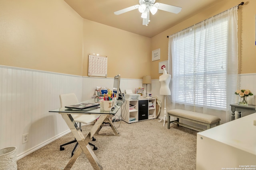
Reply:
[[[177,123],[177,126],[182,125],[198,131],[204,131],[206,129],[210,129],[211,127],[213,127],[213,125],[216,125],[216,126],[220,125],[220,118],[213,115],[197,113],[194,111],[187,111],[182,109],[172,109],[172,110],[169,110],[167,113],[168,113],[168,116],[167,116],[168,129],[170,129],[170,123],[172,122]],[[170,121],[170,116],[176,117],[177,119],[174,121]],[[179,119],[184,119],[184,120],[198,123],[201,125],[206,125],[206,129],[200,129],[198,127],[180,123]]]

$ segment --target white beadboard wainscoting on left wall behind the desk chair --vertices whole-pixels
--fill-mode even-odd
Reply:
[[[81,91],[81,76],[0,66],[0,148],[16,146],[21,158],[68,133],[61,115],[49,110],[60,107],[60,94],[81,100]]]

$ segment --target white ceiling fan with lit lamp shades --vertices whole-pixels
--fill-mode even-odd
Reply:
[[[168,4],[162,4],[159,2],[155,3],[155,2],[156,2],[156,0],[139,0],[140,5],[134,5],[134,6],[130,6],[128,8],[124,8],[122,10],[114,12],[114,14],[120,15],[125,12],[139,9],[139,12],[142,13],[141,18],[143,18],[142,25],[148,26],[148,23],[150,21],[149,20],[149,14],[150,14],[149,12],[151,12],[151,14],[154,15],[154,14],[156,14],[157,10],[159,9],[159,10],[178,14],[182,9],[181,7],[178,7],[178,6],[172,6],[172,5],[168,5]]]

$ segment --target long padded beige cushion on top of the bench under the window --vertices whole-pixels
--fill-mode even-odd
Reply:
[[[209,124],[220,121],[220,118],[214,115],[207,115],[203,113],[197,113],[194,111],[187,111],[182,109],[172,109],[172,110],[169,110],[167,113],[171,115],[176,115],[176,116],[204,122],[204,123],[209,123]]]

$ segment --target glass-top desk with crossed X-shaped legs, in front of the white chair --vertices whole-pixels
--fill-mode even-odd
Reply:
[[[87,100],[83,101],[81,103],[93,103],[94,100]],[[79,103],[80,104],[80,103]],[[110,120],[111,116],[116,114],[117,111],[122,106],[122,103],[118,103],[118,106],[115,105],[114,109],[111,111],[104,111],[104,109],[100,109],[99,106],[90,107],[88,109],[83,110],[77,110],[77,109],[67,109],[65,107],[61,107],[59,109],[50,110],[49,112],[56,112],[60,113],[67,123],[68,127],[70,128],[71,132],[73,133],[74,137],[76,138],[79,147],[74,152],[74,155],[64,168],[64,170],[70,170],[70,168],[73,166],[73,164],[76,162],[77,158],[80,156],[82,152],[86,155],[88,160],[90,161],[92,167],[96,170],[102,170],[103,167],[100,164],[98,158],[94,154],[92,148],[88,144],[92,137],[94,135],[113,135],[113,136],[120,136],[114,125],[112,124],[112,121]],[[82,132],[80,131],[79,127],[76,125],[76,122],[74,121],[72,114],[94,114],[94,115],[100,115],[96,123],[92,126],[90,129],[90,132],[84,137]],[[110,127],[112,128],[114,134],[106,134],[106,133],[99,133],[100,129],[104,126],[105,123],[109,123]]]

